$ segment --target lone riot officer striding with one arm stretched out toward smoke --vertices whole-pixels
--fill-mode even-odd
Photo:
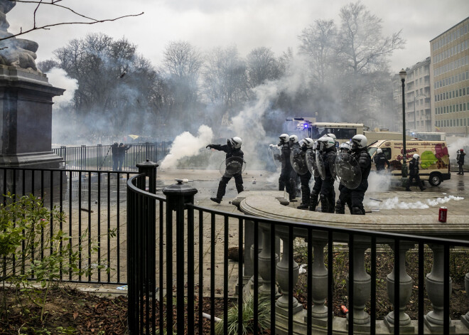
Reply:
[[[232,137],[231,139],[227,139],[227,144],[208,144],[207,148],[225,151],[226,159],[231,157],[239,157],[239,159],[242,160],[244,153],[241,150],[241,144],[242,139],[239,137]],[[225,174],[222,176],[222,179],[220,179],[220,183],[218,184],[217,196],[215,198],[210,198],[211,201],[215,201],[215,203],[222,202],[222,198],[225,196],[228,181],[230,181],[232,177],[234,177],[234,184],[236,184],[236,190],[238,193],[244,191],[241,171],[233,175]]]

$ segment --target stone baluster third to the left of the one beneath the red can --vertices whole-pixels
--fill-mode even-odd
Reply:
[[[311,295],[314,305],[311,308],[311,316],[316,319],[324,319],[328,317],[328,308],[325,307],[325,299],[328,297],[328,269],[324,264],[324,247],[328,241],[313,239],[312,243],[314,262],[311,269],[313,277]]]

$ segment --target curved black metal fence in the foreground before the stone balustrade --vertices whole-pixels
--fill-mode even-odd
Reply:
[[[454,330],[450,320],[450,250],[455,247],[468,248],[468,242],[330,228],[213,211],[194,206],[193,198],[197,190],[185,184],[165,188],[163,193],[166,198],[156,196],[151,192],[152,177],[146,177],[153,173],[140,172],[127,182],[130,334],[185,334],[185,331],[193,334],[195,330],[198,330],[198,334],[204,334],[207,328],[210,334],[215,334],[217,327],[220,327],[217,334],[228,334],[232,324],[238,325],[236,334],[243,334],[241,325],[247,321],[253,326],[253,334],[261,334],[260,314],[265,313],[264,307],[259,309],[261,299],[267,299],[268,302],[269,334],[293,334],[293,330],[295,334],[316,334],[318,329],[322,331],[321,334],[350,335],[355,334],[355,331],[367,334],[409,331],[401,321],[408,321],[410,325],[410,320],[400,321],[400,318],[406,316],[403,304],[408,302],[404,301],[408,297],[405,297],[403,291],[408,290],[409,282],[404,283],[402,278],[405,277],[406,250],[410,249],[416,250],[418,257],[418,277],[415,283],[418,290],[418,317],[414,321],[415,331],[411,333],[424,334],[424,329],[431,326],[426,324],[428,317],[424,315],[426,294],[433,307],[431,316],[437,316],[438,319],[436,330],[432,331],[450,334],[450,330]],[[148,191],[144,191],[147,187]],[[277,237],[281,239],[281,250],[274,247],[278,245]],[[307,243],[307,285],[302,287],[307,291],[307,309],[304,318],[300,318],[304,321],[298,321],[298,317],[293,320],[293,315],[298,316],[298,311],[303,310],[293,297],[298,280],[298,264],[293,260],[295,238],[306,240]],[[252,240],[252,247],[247,240]],[[338,243],[347,251],[342,265],[348,266],[349,312],[346,321],[344,317],[336,317],[333,312],[333,277],[338,270],[334,265],[334,251]],[[204,245],[210,245],[210,248],[204,250]],[[244,256],[244,270],[241,261],[237,270],[230,270],[229,245],[237,246],[239,260],[243,260]],[[387,277],[387,289],[392,305],[399,307],[396,313],[389,311],[392,313],[387,317],[390,320],[389,331],[384,329],[384,333],[383,329],[377,330],[376,298],[377,282],[383,280],[377,278],[376,268],[377,248],[382,245],[388,245],[394,250],[389,256],[393,262],[393,271]],[[429,253],[428,248],[433,252]],[[365,250],[368,250],[370,257],[366,267]],[[430,258],[433,254],[433,260],[428,260],[429,254]],[[324,256],[327,256],[325,261]],[[244,289],[239,288],[239,292],[244,294],[237,294],[233,302],[229,287],[230,271],[237,274],[238,284],[242,286],[241,279],[247,275],[246,257],[252,257],[252,285],[245,284]],[[281,260],[278,262],[279,257]],[[433,265],[431,274],[426,276],[424,269],[428,262],[433,262]],[[394,274],[399,274],[396,275],[399,280]],[[243,319],[243,305],[249,296],[247,292],[254,301],[252,319],[249,320]],[[365,303],[370,304],[370,307],[365,309]],[[228,311],[231,308],[237,308],[237,314],[234,320],[231,315],[229,324]],[[210,321],[203,318],[204,309],[209,312]],[[322,309],[320,318],[316,314],[318,309]],[[221,321],[215,321],[216,314],[222,317]],[[338,322],[338,319],[343,322]],[[393,322],[401,326],[393,327]]]

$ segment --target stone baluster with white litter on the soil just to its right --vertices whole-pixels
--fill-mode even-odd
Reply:
[[[280,262],[277,263],[277,280],[279,281],[279,287],[281,289],[281,297],[277,299],[276,306],[279,308],[279,313],[288,315],[289,310],[289,300],[290,294],[289,292],[289,255],[290,250],[289,247],[289,238],[293,238],[293,236],[289,236],[289,233],[278,233],[279,237],[282,240],[282,250],[283,254],[281,256]],[[299,275],[300,267],[298,263],[293,260],[293,283],[292,287],[295,287],[296,283],[298,282],[298,275]],[[298,300],[293,297],[293,314],[301,312],[303,307],[301,304],[298,304]]]

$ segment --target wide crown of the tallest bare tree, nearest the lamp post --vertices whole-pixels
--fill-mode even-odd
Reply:
[[[382,36],[381,18],[367,11],[360,1],[343,6],[340,18],[338,58],[345,70],[353,73],[382,70],[387,56],[404,47],[401,31]]]

